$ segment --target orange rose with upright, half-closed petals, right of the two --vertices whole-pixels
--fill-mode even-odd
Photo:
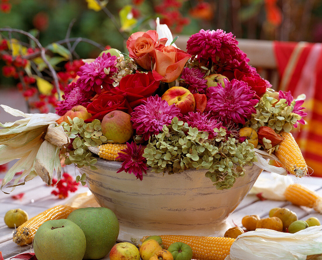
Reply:
[[[173,82],[176,80],[185,63],[191,58],[191,55],[175,48],[174,46],[160,46],[155,49],[155,59],[153,67],[153,77],[155,80],[163,82]]]

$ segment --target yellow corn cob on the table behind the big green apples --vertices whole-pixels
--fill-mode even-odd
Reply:
[[[27,220],[14,231],[14,243],[24,246],[33,242],[33,237],[39,226],[47,220],[67,218],[75,208],[59,205],[47,209],[37,216]]]

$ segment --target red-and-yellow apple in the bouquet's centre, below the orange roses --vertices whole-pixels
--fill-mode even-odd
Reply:
[[[169,88],[166,92],[164,92],[161,99],[166,100],[169,105],[175,104],[183,115],[194,111],[194,95],[184,87],[175,86]]]

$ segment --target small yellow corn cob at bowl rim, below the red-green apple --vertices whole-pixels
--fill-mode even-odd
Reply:
[[[121,150],[126,149],[126,144],[119,143],[107,143],[102,144],[98,147],[90,146],[88,149],[97,154],[100,158],[111,160],[111,161],[120,161],[120,159],[116,159],[118,157],[118,153],[124,153]]]

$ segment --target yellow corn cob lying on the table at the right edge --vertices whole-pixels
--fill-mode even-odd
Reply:
[[[284,195],[294,205],[310,207],[322,213],[322,198],[316,192],[298,183],[289,185],[285,189]]]

